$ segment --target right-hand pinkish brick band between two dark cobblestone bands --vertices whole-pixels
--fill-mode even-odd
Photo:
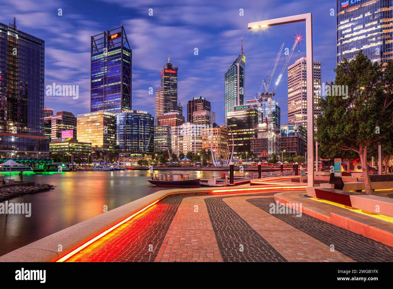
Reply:
[[[272,200],[272,196],[266,196]],[[256,195],[253,198],[261,198]],[[277,219],[246,201],[250,197],[224,198],[239,216],[290,262],[353,262],[351,258]]]

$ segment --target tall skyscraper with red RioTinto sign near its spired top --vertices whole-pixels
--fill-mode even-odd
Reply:
[[[177,72],[178,68],[168,63],[161,70],[161,83],[156,90],[156,123],[158,117],[167,112],[178,112],[183,115],[183,107],[177,96]]]

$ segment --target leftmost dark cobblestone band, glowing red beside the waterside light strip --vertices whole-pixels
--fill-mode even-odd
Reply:
[[[151,206],[67,261],[154,261],[184,197],[170,197]]]

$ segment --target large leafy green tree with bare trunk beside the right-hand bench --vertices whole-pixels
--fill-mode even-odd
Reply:
[[[393,128],[393,62],[372,63],[360,51],[352,61],[344,59],[335,69],[334,92],[347,88],[346,95],[321,99],[322,114],[316,120],[316,140],[321,145],[336,144],[339,149],[359,155],[366,193],[372,194],[367,151],[389,141]],[[334,85],[334,86],[333,86]]]

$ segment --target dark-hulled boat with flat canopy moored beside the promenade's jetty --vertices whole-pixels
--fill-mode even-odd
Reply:
[[[190,179],[189,173],[154,174],[154,177],[147,181],[156,186],[200,187],[199,179]]]

